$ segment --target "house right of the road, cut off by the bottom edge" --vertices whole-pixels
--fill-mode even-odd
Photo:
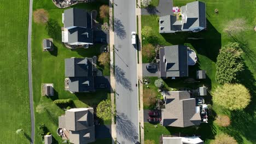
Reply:
[[[162,135],[160,144],[203,144],[203,141],[198,136],[172,137]]]

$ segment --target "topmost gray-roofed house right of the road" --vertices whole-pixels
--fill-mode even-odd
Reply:
[[[173,14],[159,17],[159,33],[199,32],[205,28],[206,7],[200,1],[187,3]]]

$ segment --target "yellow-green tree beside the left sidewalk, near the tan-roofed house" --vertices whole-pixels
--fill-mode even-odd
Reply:
[[[114,106],[115,107],[115,106]],[[115,110],[115,108],[114,108]],[[111,119],[112,115],[115,115],[115,111],[112,113],[112,105],[110,100],[103,100],[97,106],[97,116],[103,120]]]

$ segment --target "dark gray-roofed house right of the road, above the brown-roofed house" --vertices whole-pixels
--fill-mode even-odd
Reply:
[[[160,48],[160,77],[188,76],[188,47],[172,45]]]

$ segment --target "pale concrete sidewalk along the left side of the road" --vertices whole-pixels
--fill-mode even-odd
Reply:
[[[110,97],[111,97],[111,104],[112,104],[112,113],[115,111],[114,110],[114,105],[115,105],[115,94],[114,94],[114,89],[115,89],[115,76],[114,76],[114,32],[113,32],[113,5],[112,5],[113,0],[109,0],[109,49],[110,49]],[[117,129],[116,125],[114,123],[114,117],[112,117],[112,123],[111,123],[111,136],[112,136],[112,144],[115,143],[115,140],[117,138]]]

